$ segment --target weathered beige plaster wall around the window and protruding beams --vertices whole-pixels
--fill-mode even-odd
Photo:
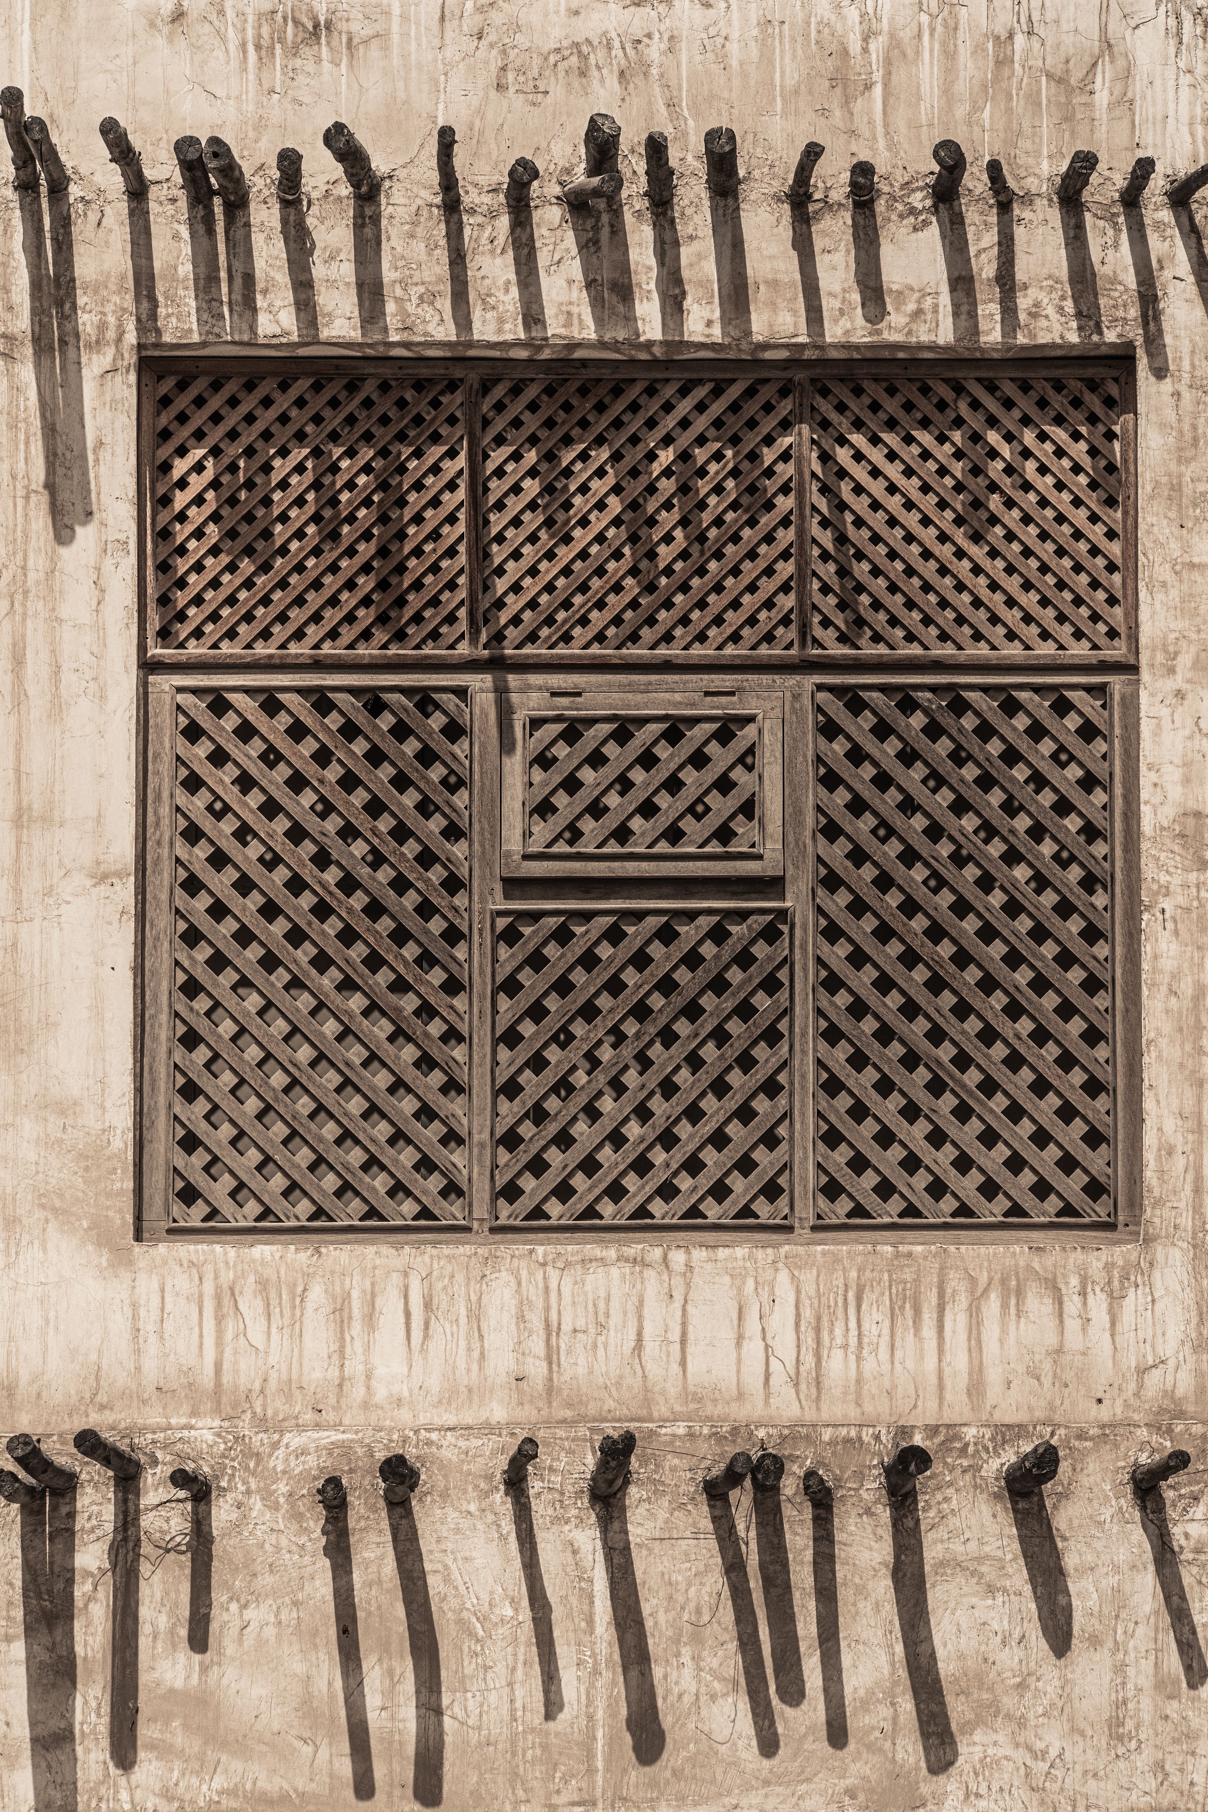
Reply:
[[[0,47],[71,170],[36,210],[0,185],[2,1431],[65,1457],[94,1424],[145,1459],[138,1555],[96,1466],[49,1549],[0,1506],[0,1808],[1204,1807],[1208,201],[1197,217],[1161,194],[1208,158],[1203,5],[13,0]],[[632,299],[589,294],[556,187],[596,109],[623,129]],[[150,181],[134,245],[103,114]],[[386,178],[380,294],[322,149],[335,118]],[[529,332],[540,288],[563,350],[715,346],[746,332],[708,221],[721,123],[755,346],[1136,342],[1141,1241],[134,1243],[139,339],[473,333],[538,357],[502,199],[523,154]],[[683,306],[656,275],[652,129],[679,170]],[[181,132],[225,136],[248,172],[254,281],[237,250],[234,295],[190,257]],[[929,201],[942,136],[969,154],[971,284],[949,284]],[[806,234],[784,190],[808,138],[826,156]],[[310,196],[293,286],[281,145]],[[1085,239],[1056,203],[1079,147],[1101,159]],[[1157,178],[1127,223],[1141,152]],[[1018,194],[1012,257],[987,156]],[[875,272],[857,281],[855,158],[878,169],[884,306]],[[634,1482],[599,1524],[592,1448],[623,1426]],[[523,1431],[527,1504],[500,1488]],[[1002,1466],[1041,1437],[1061,1473],[1029,1520]],[[916,1520],[891,1518],[878,1475],[902,1439],[935,1453]],[[705,1470],[761,1441],[788,1460],[782,1513],[744,1493],[737,1528],[714,1526]],[[404,1444],[424,1482],[388,1515],[377,1460]],[[1130,1466],[1170,1444],[1192,1468],[1146,1531]],[[205,1531],[167,1502],[181,1460],[216,1479],[208,1633],[210,1547],[188,1551]],[[806,1464],[833,1522],[801,1495]],[[324,1553],[330,1471],[348,1547]]]

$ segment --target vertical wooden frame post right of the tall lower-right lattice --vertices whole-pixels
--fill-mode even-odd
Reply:
[[[1116,1225],[1141,1225],[1141,699],[1137,680],[1108,687],[1112,877],[1112,1196]]]

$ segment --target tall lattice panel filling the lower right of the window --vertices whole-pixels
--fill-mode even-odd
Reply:
[[[1112,1221],[1108,698],[817,694],[820,1221]]]

